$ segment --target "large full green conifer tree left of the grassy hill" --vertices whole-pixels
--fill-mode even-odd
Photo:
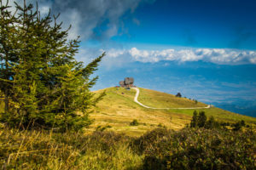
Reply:
[[[23,126],[30,122],[46,127],[55,125],[61,130],[88,126],[91,108],[104,95],[96,98],[90,93],[98,78],[90,80],[90,75],[105,54],[84,67],[84,63],[74,59],[79,39],[67,41],[68,30],[61,30],[61,24],[56,21],[58,16],[53,17],[52,26],[50,13],[41,18],[38,8],[33,11],[32,4],[26,6],[25,1],[23,7],[15,4],[17,14],[12,16],[7,5],[1,6],[9,14],[1,20],[13,17],[10,22],[15,26],[15,38],[3,37],[11,42],[9,49],[15,56],[12,65],[1,67],[5,72],[12,71],[11,77],[6,73],[0,79],[1,83],[9,84],[1,86],[1,90],[7,90],[5,96],[12,101],[12,111],[5,111],[4,121],[20,122]],[[2,30],[6,29],[1,27],[1,38]],[[9,62],[7,56],[1,55],[1,63]]]

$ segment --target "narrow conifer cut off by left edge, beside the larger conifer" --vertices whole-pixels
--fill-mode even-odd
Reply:
[[[18,60],[15,55],[18,42],[15,28],[17,19],[8,8],[8,3],[3,4],[0,0],[0,90],[4,94],[5,112],[9,111],[9,97],[13,83],[10,80],[14,76],[12,66]]]

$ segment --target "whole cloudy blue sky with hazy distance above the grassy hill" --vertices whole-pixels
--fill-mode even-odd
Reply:
[[[106,52],[92,90],[134,77],[141,88],[180,92],[256,116],[255,0],[38,0],[38,4],[42,16],[49,8],[52,14],[60,13],[63,29],[72,25],[68,39],[80,37],[76,59],[84,65]]]

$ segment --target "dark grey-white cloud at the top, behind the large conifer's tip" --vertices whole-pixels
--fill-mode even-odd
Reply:
[[[3,0],[6,3],[7,0]],[[23,6],[23,0],[9,0],[11,11],[15,11],[15,3]],[[26,0],[26,3],[36,5],[35,0]],[[41,16],[48,14],[61,14],[59,22],[63,21],[62,28],[72,25],[69,39],[78,36],[82,40],[109,39],[122,33],[121,17],[133,13],[140,3],[152,3],[154,0],[38,0]]]

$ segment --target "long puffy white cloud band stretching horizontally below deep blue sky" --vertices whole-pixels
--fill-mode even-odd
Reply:
[[[218,65],[247,65],[256,64],[256,51],[224,48],[191,48],[191,49],[164,49],[140,50],[131,48],[126,50],[110,49],[107,51],[109,59],[129,58],[131,61],[156,63],[161,60],[187,62],[206,61]]]

